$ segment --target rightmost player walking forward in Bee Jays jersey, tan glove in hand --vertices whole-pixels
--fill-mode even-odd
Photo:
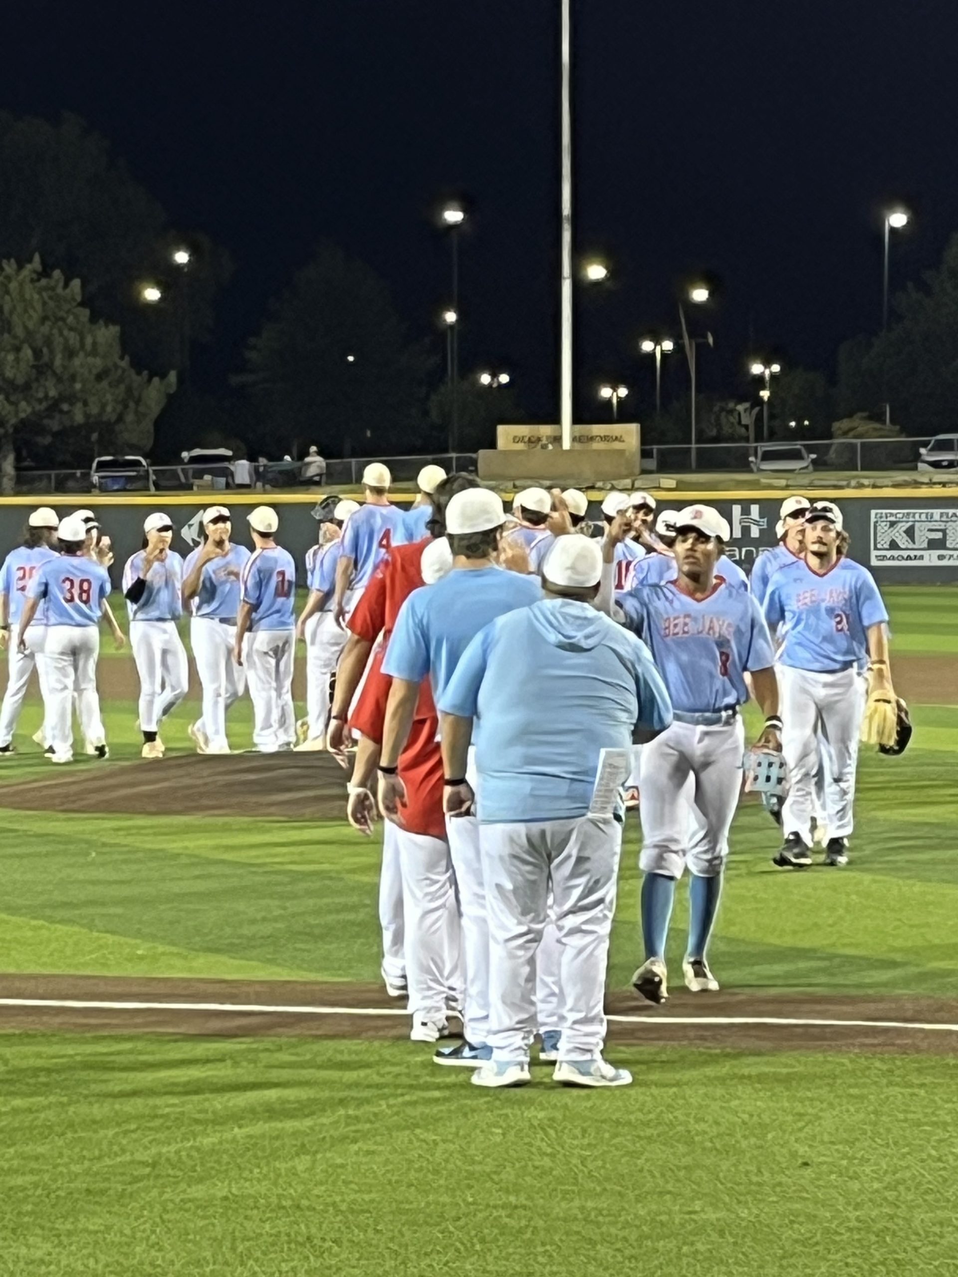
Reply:
[[[816,738],[828,743],[834,798],[829,798],[825,863],[848,863],[853,829],[858,733],[867,695],[892,688],[888,612],[871,573],[839,553],[840,511],[815,504],[805,516],[805,553],[772,577],[765,617],[782,640],[778,674],[789,790],[782,811],[784,843],[775,865],[811,865]]]

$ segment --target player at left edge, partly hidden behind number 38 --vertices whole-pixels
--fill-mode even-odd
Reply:
[[[31,672],[36,668],[40,693],[46,711],[46,665],[43,664],[43,640],[46,637],[46,607],[40,605],[27,640],[27,650],[20,651],[18,644],[10,642],[10,632],[15,630],[23,616],[27,601],[27,586],[41,563],[56,558],[56,512],[49,506],[34,510],[27,520],[23,544],[4,559],[0,567],[0,649],[8,649],[9,669],[6,691],[0,706],[0,759],[13,757],[13,733],[20,716],[23,699],[27,695]],[[37,743],[50,747],[46,724],[37,733]]]

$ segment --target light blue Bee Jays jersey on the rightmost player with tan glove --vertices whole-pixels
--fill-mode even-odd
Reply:
[[[765,618],[782,640],[783,665],[828,673],[865,665],[866,631],[886,622],[888,612],[861,563],[842,557],[828,572],[816,572],[801,558],[772,577]]]

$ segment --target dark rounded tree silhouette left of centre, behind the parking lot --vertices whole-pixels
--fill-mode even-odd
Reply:
[[[370,267],[321,244],[270,308],[236,378],[275,452],[296,439],[327,456],[413,452],[425,437],[430,358],[410,341]]]

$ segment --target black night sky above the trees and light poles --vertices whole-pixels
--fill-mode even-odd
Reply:
[[[171,222],[229,248],[236,271],[197,361],[209,388],[321,238],[384,276],[411,331],[434,332],[448,257],[430,212],[462,195],[461,368],[507,368],[531,415],[554,419],[558,8],[14,0],[0,105],[82,115]],[[723,283],[704,388],[733,391],[751,352],[829,370],[844,337],[878,326],[883,200],[915,215],[893,287],[958,229],[948,0],[574,0],[574,28],[576,248],[614,272],[579,294],[581,419],[602,418],[604,377],[651,384],[636,342],[677,336],[688,272]]]

